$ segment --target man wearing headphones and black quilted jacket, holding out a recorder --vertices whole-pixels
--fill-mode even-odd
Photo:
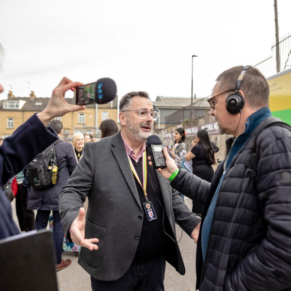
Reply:
[[[291,130],[271,117],[269,86],[256,68],[236,66],[216,81],[210,114],[234,137],[212,182],[178,169],[166,150],[159,169],[205,205],[196,287],[291,290]]]

